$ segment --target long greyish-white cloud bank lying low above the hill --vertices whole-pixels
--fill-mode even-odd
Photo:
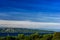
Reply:
[[[60,29],[60,23],[0,20],[0,27]]]

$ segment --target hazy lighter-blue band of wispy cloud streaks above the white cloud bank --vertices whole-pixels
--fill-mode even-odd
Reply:
[[[60,22],[59,13],[50,14],[47,12],[5,12],[0,13],[0,19],[6,20],[30,20],[35,22]]]

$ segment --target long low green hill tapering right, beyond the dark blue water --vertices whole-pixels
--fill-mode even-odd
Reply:
[[[38,30],[38,29],[28,29],[28,28],[0,28],[0,32],[9,32],[9,33],[26,33],[26,32],[53,32],[48,30]]]

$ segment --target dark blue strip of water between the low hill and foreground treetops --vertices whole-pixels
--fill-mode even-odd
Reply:
[[[0,33],[0,36],[18,36],[18,34],[24,34],[24,35],[31,35],[33,33]],[[43,34],[53,34],[53,32],[49,33],[49,32],[40,32],[39,33],[40,35],[43,35]]]

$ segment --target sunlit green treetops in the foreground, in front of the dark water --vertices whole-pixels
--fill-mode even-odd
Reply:
[[[0,40],[60,40],[60,32],[40,35],[38,32],[31,35],[18,34],[18,36],[0,37]]]

